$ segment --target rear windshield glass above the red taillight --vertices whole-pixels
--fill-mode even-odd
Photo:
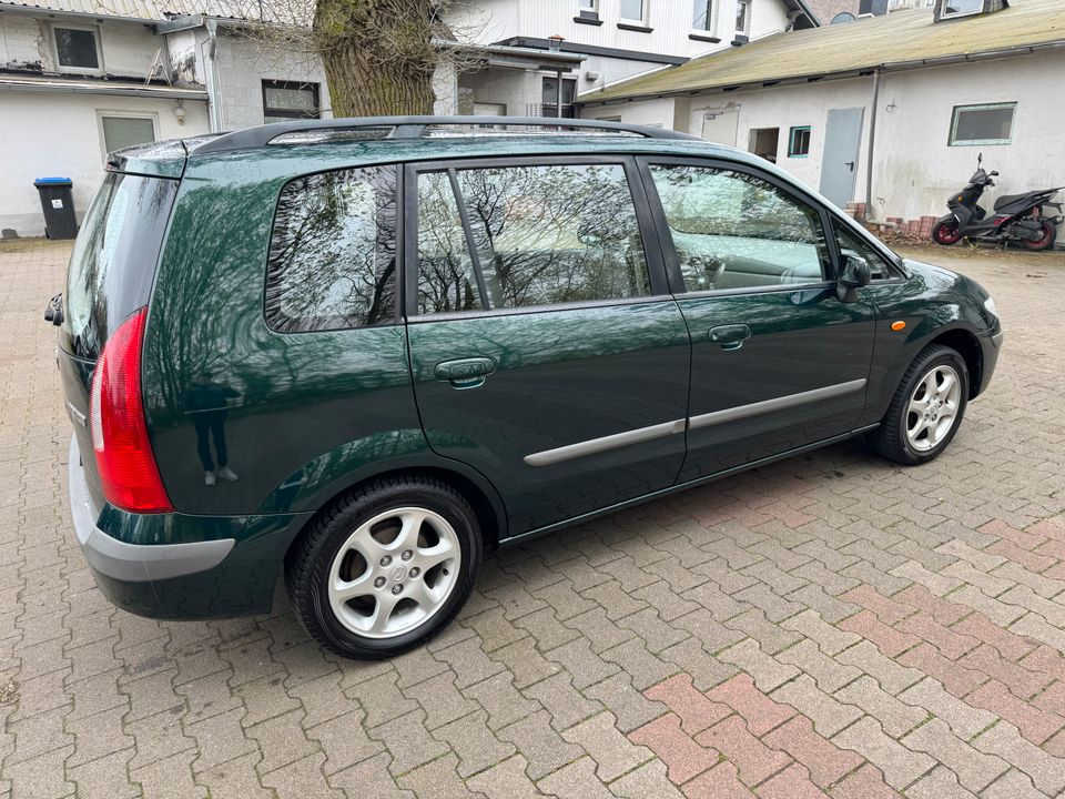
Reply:
[[[148,304],[178,181],[108,173],[74,243],[63,332],[74,355],[95,358],[111,332]]]

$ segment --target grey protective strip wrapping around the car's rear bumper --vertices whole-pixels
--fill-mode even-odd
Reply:
[[[212,569],[236,544],[234,538],[187,544],[126,544],[97,527],[78,439],[70,439],[70,514],[85,560],[100,574],[124,583],[171,579]]]

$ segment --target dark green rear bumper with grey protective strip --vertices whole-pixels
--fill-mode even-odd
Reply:
[[[144,516],[110,505],[97,508],[77,441],[71,442],[68,468],[74,534],[97,586],[111,603],[138,616],[194,619],[268,613],[285,552],[311,517]],[[222,530],[230,535],[220,535]],[[120,535],[141,543],[121,540]],[[162,543],[175,538],[180,543]]]

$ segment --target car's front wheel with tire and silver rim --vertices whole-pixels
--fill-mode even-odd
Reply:
[[[889,461],[916,466],[939,457],[953,441],[968,403],[968,368],[951,347],[926,346],[906,370],[873,447]]]

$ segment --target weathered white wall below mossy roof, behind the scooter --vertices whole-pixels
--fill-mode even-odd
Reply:
[[[1065,53],[1057,51],[885,73],[878,102],[872,215],[912,220],[946,213],[946,199],[968,181],[978,152],[988,170],[1002,173],[997,188],[985,195],[988,211],[1001,194],[1065,185],[1065,105],[1047,102],[1046,94],[1047,77],[1058,74],[1065,74]],[[669,98],[585,107],[581,115],[620,115],[625,122],[657,122],[702,135],[708,111],[736,107],[736,140],[719,143],[747,150],[751,129],[780,128],[777,165],[816,190],[829,110],[864,108],[854,184],[854,200],[864,202],[871,101],[872,78],[865,77],[694,97],[686,121]],[[1011,144],[949,145],[955,105],[994,102],[1017,102]],[[789,131],[795,125],[810,125],[807,158],[788,156]],[[1061,237],[1065,240],[1065,226]]]

